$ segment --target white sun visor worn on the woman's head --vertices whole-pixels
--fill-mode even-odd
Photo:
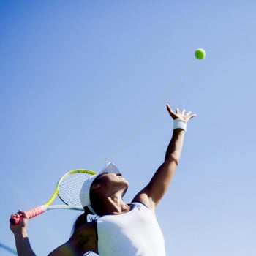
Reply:
[[[99,173],[120,173],[118,168],[116,167],[113,162],[109,162],[108,165]],[[90,189],[91,184],[94,182],[95,178],[99,176],[99,174],[89,176],[86,181],[83,182],[83,186],[80,191],[80,203],[83,207],[87,206],[90,211],[95,214],[94,209],[91,207],[91,200],[90,200]]]

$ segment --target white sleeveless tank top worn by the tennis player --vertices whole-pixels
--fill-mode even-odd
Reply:
[[[157,219],[143,203],[132,203],[125,214],[97,219],[100,256],[165,256],[165,241]]]

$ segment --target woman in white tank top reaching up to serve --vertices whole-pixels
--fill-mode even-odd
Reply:
[[[80,200],[85,213],[75,222],[69,240],[49,256],[84,255],[95,252],[101,256],[165,256],[165,242],[157,223],[155,209],[165,195],[181,157],[187,121],[196,116],[185,110],[167,111],[173,118],[173,136],[167,147],[165,160],[157,172],[131,203],[123,200],[129,186],[121,173],[101,173],[83,184]],[[98,218],[86,222],[92,211]],[[35,255],[26,233],[28,218],[17,226],[10,225],[15,235],[18,255]]]

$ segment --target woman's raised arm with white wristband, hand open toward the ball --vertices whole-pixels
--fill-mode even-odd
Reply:
[[[186,132],[187,122],[196,116],[191,112],[186,113],[185,110],[176,108],[174,112],[169,105],[166,105],[167,111],[174,120],[173,136],[167,147],[165,160],[162,165],[154,173],[148,185],[142,189],[133,201],[145,203],[152,211],[157,207],[159,201],[167,192],[173,174],[176,171],[179,159],[181,157],[184,136]]]

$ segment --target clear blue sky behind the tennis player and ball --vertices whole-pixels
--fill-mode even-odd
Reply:
[[[45,203],[68,170],[111,160],[131,200],[165,156],[169,103],[197,117],[157,209],[167,255],[255,255],[255,12],[252,0],[2,0],[0,245],[15,248],[10,214]],[[31,219],[37,255],[78,214]]]

